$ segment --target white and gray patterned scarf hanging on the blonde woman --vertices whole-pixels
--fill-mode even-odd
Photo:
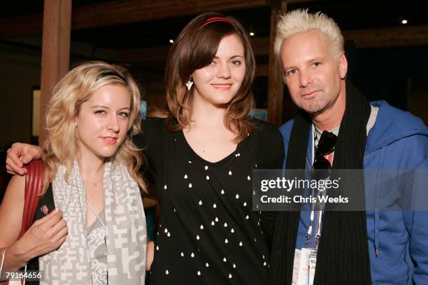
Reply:
[[[77,161],[69,183],[65,171],[65,166],[59,166],[52,189],[55,207],[64,212],[69,234],[57,251],[38,258],[40,270],[45,271],[41,284],[90,285],[85,188]],[[147,232],[138,184],[125,166],[106,162],[103,187],[108,284],[144,284]]]

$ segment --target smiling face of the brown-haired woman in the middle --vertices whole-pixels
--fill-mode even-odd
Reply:
[[[225,36],[211,64],[192,74],[195,99],[223,106],[234,98],[244,77],[243,44],[236,34]]]

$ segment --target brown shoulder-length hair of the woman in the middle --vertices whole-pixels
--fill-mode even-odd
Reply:
[[[213,61],[220,41],[224,36],[236,34],[241,39],[245,57],[245,77],[241,88],[227,104],[224,125],[236,133],[236,142],[244,140],[254,129],[248,117],[254,106],[251,92],[255,77],[255,57],[247,32],[236,19],[226,17],[231,22],[210,22],[211,17],[224,17],[220,13],[204,13],[195,17],[178,35],[166,59],[166,111],[155,110],[148,117],[167,117],[169,131],[180,131],[190,124],[192,117],[192,97],[194,88],[187,90],[185,83],[190,75]],[[204,25],[204,27],[202,27]]]

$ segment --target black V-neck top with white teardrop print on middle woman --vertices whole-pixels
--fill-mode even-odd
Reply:
[[[261,212],[252,211],[252,169],[257,153],[271,158],[264,168],[280,168],[283,139],[276,127],[255,122],[257,131],[211,163],[193,151],[183,131],[167,131],[163,119],[143,121],[136,142],[161,204],[151,285],[266,283],[269,252]]]

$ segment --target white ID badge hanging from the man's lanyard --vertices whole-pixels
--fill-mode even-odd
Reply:
[[[296,249],[292,285],[312,285],[317,264],[317,249]]]

